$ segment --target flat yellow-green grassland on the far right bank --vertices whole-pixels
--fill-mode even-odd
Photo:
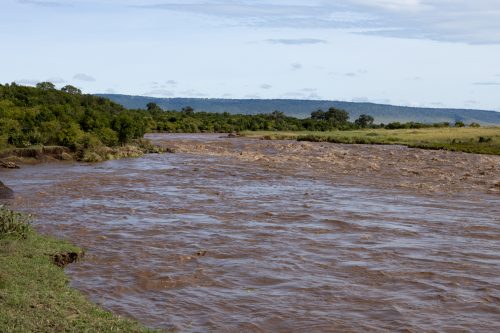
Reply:
[[[242,132],[269,140],[333,142],[347,144],[399,144],[423,149],[500,155],[500,127],[449,127],[425,129],[364,129],[331,132]]]

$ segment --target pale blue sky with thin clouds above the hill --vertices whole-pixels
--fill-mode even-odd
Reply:
[[[0,0],[0,82],[500,111],[500,0]]]

